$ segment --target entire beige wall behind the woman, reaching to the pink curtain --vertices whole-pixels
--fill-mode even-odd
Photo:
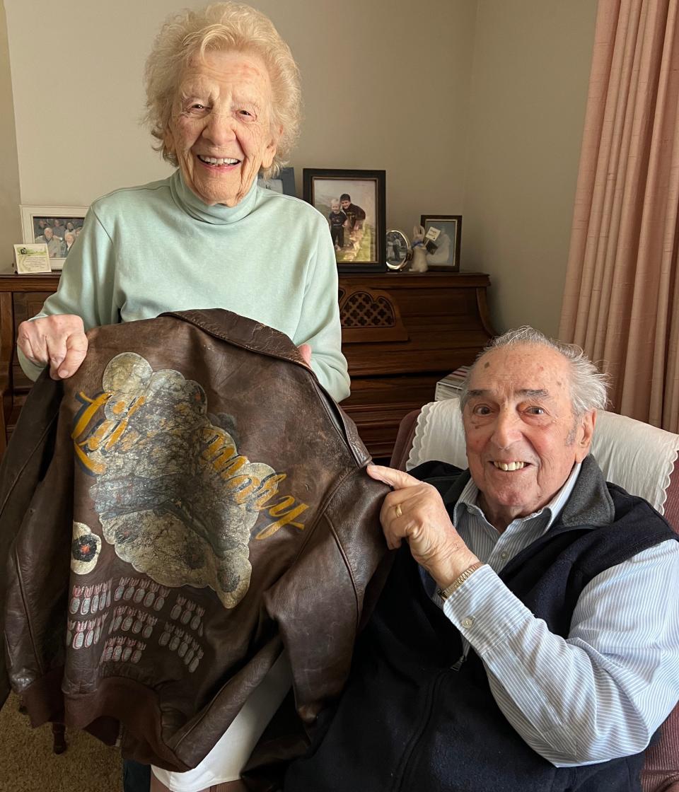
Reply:
[[[55,13],[4,0],[17,131],[15,158],[0,118],[5,216],[169,172],[138,123],[143,61],[166,13],[202,2],[70,0]],[[385,169],[389,226],[410,235],[422,213],[462,214],[462,265],[490,272],[496,327],[555,333],[596,2],[252,2],[302,70],[299,194],[303,167]],[[2,36],[0,16],[6,98]]]

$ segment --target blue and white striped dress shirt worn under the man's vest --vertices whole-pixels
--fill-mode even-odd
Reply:
[[[432,600],[473,646],[513,728],[556,767],[630,756],[679,699],[679,543],[669,540],[605,570],[584,588],[565,640],[552,634],[498,573],[546,533],[580,472],[540,511],[498,533],[470,479],[453,512],[457,531],[486,565],[445,602]],[[422,570],[424,571],[424,570]]]

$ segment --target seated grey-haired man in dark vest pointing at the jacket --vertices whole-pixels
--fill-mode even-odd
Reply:
[[[679,698],[679,543],[589,455],[604,406],[582,350],[521,328],[469,375],[469,470],[369,469],[400,549],[286,792],[640,789]]]

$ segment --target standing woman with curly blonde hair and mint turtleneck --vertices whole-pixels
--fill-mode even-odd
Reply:
[[[92,204],[59,290],[19,328],[26,373],[35,379],[49,365],[53,378],[71,376],[91,327],[223,307],[286,333],[334,398],[345,398],[326,219],[257,187],[257,173],[275,175],[297,135],[299,74],[288,45],[249,6],[189,10],[159,33],[146,87],[151,134],[178,169]],[[153,789],[197,792],[238,779],[288,685],[277,664],[204,762],[183,774],[154,768]],[[125,763],[126,792],[149,782],[147,767]]]

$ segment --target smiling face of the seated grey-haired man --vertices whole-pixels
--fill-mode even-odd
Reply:
[[[570,364],[555,349],[505,346],[479,360],[463,413],[467,459],[498,531],[551,501],[589,453],[595,420],[575,419]]]

